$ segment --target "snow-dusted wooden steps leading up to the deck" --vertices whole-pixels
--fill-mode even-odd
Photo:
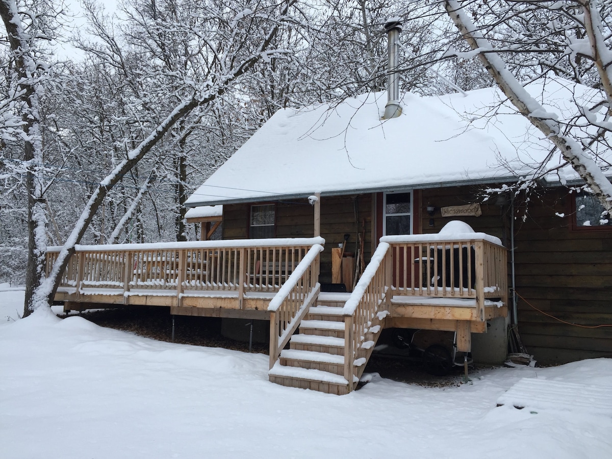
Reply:
[[[346,340],[349,329],[346,320],[352,316],[344,315],[344,302],[324,303],[319,300],[316,306],[310,307],[299,324],[299,332],[289,340],[289,349],[281,351],[269,371],[272,383],[336,395],[356,389],[382,326],[378,318],[373,318],[376,324],[372,323],[363,339],[358,340],[360,349],[353,351]],[[353,365],[346,365],[347,353]],[[358,357],[362,354],[365,357]],[[347,375],[353,376],[350,384]]]

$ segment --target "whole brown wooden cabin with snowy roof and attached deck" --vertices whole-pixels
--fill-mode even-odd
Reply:
[[[464,362],[502,362],[517,324],[539,362],[612,356],[612,226],[580,185],[495,88],[286,108],[187,200],[201,241],[78,246],[55,299],[269,321],[270,380],[332,394],[386,327],[454,332]]]

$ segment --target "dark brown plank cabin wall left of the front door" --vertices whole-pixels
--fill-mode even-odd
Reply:
[[[261,203],[254,203],[261,204]],[[276,237],[312,237],[314,209],[307,200],[291,200],[276,204]],[[246,239],[251,204],[223,206],[223,239]],[[363,234],[365,223],[364,259],[371,257],[371,195],[323,196],[321,198],[321,237],[326,241],[321,253],[319,282],[332,282],[332,247],[349,234],[346,252],[357,253],[357,234]]]

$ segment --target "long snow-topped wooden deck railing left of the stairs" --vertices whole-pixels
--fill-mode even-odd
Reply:
[[[161,295],[277,292],[321,237],[76,245],[60,288],[106,294]],[[47,274],[59,248],[47,252]]]

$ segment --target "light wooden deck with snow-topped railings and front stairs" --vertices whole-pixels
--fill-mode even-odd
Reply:
[[[468,352],[472,333],[507,314],[506,249],[491,239],[383,238],[353,293],[326,302],[321,238],[78,246],[54,300],[269,319],[271,381],[346,394],[385,326],[455,331]]]

